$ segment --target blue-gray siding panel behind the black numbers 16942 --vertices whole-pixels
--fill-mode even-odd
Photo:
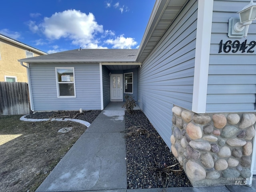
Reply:
[[[254,53],[231,51],[218,53],[220,40],[223,44],[231,40],[240,43],[247,40],[247,46],[256,40],[256,24],[249,27],[247,38],[228,38],[228,19],[239,18],[236,13],[249,0],[214,0],[212,36],[208,72],[206,112],[255,111],[256,102],[256,48]],[[248,50],[248,49],[247,49]],[[247,51],[246,50],[246,51]]]

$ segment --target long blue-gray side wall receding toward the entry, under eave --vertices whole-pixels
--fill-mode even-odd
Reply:
[[[190,0],[138,68],[138,105],[169,147],[173,105],[192,109],[197,9]]]

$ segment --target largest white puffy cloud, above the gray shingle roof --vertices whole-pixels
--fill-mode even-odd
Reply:
[[[29,21],[28,26],[32,32],[40,31],[50,40],[69,38],[78,46],[94,42],[96,34],[104,32],[92,13],[87,15],[79,10],[56,12],[40,24]]]

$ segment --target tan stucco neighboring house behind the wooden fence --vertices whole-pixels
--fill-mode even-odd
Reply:
[[[0,81],[28,82],[26,68],[17,60],[45,54],[47,53],[0,34]]]

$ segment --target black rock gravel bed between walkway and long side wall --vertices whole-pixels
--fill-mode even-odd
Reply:
[[[126,112],[125,126],[128,189],[192,186],[183,170],[172,171],[182,168],[142,110]]]

